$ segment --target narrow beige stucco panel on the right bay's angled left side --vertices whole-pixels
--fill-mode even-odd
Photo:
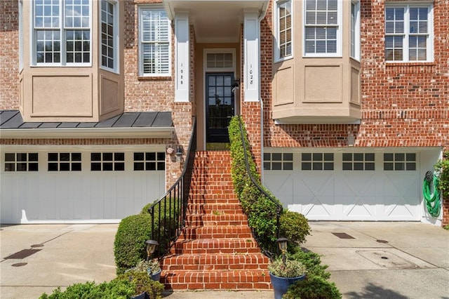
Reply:
[[[293,86],[295,86],[293,65],[278,69],[274,75],[275,106],[293,104]]]

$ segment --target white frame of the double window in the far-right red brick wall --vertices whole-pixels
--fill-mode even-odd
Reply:
[[[385,4],[385,11],[387,8],[403,8],[404,9],[404,32],[403,34],[396,34],[397,36],[403,35],[403,53],[402,60],[387,60],[386,55],[386,44],[384,45],[384,58],[387,63],[403,63],[403,62],[433,62],[434,61],[434,5],[429,3],[414,3],[414,2],[406,2],[406,3],[393,3],[393,4]],[[426,48],[426,60],[410,60],[409,58],[409,43],[408,39],[410,37],[410,8],[427,8],[427,48]],[[386,13],[385,13],[386,15]],[[386,17],[385,17],[386,18]],[[395,35],[395,34],[387,34],[384,31],[384,38],[386,39],[387,35]],[[419,35],[419,34],[412,34]],[[424,35],[424,34],[423,34]]]

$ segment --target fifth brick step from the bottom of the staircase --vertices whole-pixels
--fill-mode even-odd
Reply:
[[[244,214],[187,214],[186,225],[248,225]]]

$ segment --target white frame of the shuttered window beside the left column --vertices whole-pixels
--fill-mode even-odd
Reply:
[[[171,58],[171,47],[172,47],[172,36],[171,36],[171,24],[170,20],[168,19],[167,15],[167,27],[168,27],[168,70],[167,72],[160,72],[160,73],[144,73],[144,67],[143,67],[143,43],[142,42],[142,11],[165,11],[163,6],[161,5],[144,5],[139,6],[138,9],[138,15],[139,15],[139,22],[138,22],[138,36],[139,36],[139,76],[140,77],[168,77],[171,76],[172,73],[172,58]]]

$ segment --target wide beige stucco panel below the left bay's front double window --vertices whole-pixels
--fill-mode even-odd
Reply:
[[[32,117],[92,117],[92,75],[32,77]]]

